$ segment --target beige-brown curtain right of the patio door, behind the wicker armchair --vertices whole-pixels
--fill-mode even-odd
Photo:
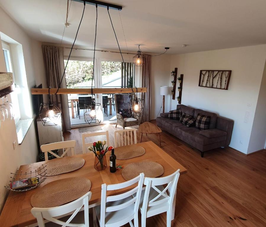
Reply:
[[[151,56],[144,55],[144,65],[141,72],[141,87],[147,87],[147,92],[142,93],[144,99],[144,116],[142,116],[141,122],[150,121],[150,103],[151,103]]]

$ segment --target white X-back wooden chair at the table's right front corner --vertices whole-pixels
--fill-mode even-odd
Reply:
[[[141,227],[146,226],[146,218],[166,212],[167,227],[171,227],[172,210],[175,209],[175,193],[180,169],[175,173],[160,178],[144,178],[145,192],[141,194],[139,210]],[[163,185],[167,184],[164,188]],[[167,193],[168,192],[168,193]],[[135,195],[134,195],[135,196]],[[173,207],[174,206],[174,207]]]

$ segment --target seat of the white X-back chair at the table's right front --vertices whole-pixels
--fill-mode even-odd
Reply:
[[[156,186],[159,190],[163,191],[164,187],[162,185]],[[144,199],[144,192],[145,190],[143,190],[141,192],[141,197],[140,197],[140,202],[139,202],[139,209],[140,211],[142,210],[142,205],[143,205],[143,199]],[[167,196],[167,193],[164,193]],[[149,194],[149,201],[151,201],[153,198],[155,198],[158,195],[158,192],[156,192],[153,188],[150,189],[150,194]],[[136,196],[136,194],[134,194],[134,196]],[[155,201],[160,201],[162,199],[164,199],[164,196],[160,196],[157,200]],[[159,213],[162,213],[162,210],[165,209],[165,212],[167,211],[167,209],[169,208],[169,203],[165,202],[163,204],[159,204],[159,205],[155,205],[155,206],[151,206],[151,207],[147,207],[147,218],[151,217],[153,215],[157,214],[157,210],[159,211]]]

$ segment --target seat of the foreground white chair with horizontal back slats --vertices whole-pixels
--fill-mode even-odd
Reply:
[[[107,202],[106,206],[110,207],[110,206],[117,206],[120,204],[123,204],[127,201],[129,201],[131,199],[131,197],[127,197],[123,200],[117,200],[117,201],[113,201],[113,202]],[[126,223],[128,223],[130,220],[132,220],[134,218],[134,203],[132,203],[131,205],[129,205],[128,207],[125,207],[124,209],[121,210],[117,210],[117,211],[113,211],[113,212],[106,212],[105,213],[105,226],[112,226],[115,223],[117,224],[117,226],[122,226],[125,225]],[[95,211],[96,211],[96,215],[98,220],[100,220],[101,217],[101,206],[96,206],[95,207]],[[128,218],[125,218],[128,217]],[[121,223],[119,223],[121,221]],[[119,223],[119,225],[118,225]]]

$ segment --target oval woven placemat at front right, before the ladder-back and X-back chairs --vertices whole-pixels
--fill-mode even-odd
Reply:
[[[133,179],[141,173],[144,173],[146,177],[157,177],[164,173],[164,168],[157,162],[144,161],[130,163],[122,170],[122,176],[126,181]]]

